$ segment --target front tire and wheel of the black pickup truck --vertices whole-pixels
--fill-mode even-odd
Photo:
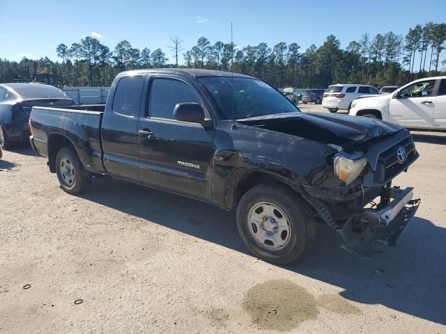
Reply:
[[[268,226],[264,227],[266,221]],[[263,184],[247,191],[238,203],[237,229],[245,246],[256,257],[275,264],[289,264],[302,255],[316,226],[312,209],[297,193],[280,184]]]

